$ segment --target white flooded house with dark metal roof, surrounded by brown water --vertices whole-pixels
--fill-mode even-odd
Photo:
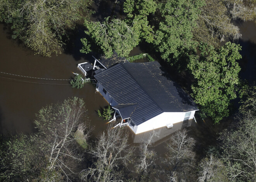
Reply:
[[[117,126],[128,126],[135,134],[166,127],[194,118],[197,106],[173,82],[157,62],[129,63],[116,54],[114,59],[95,59],[96,90],[121,118]]]

